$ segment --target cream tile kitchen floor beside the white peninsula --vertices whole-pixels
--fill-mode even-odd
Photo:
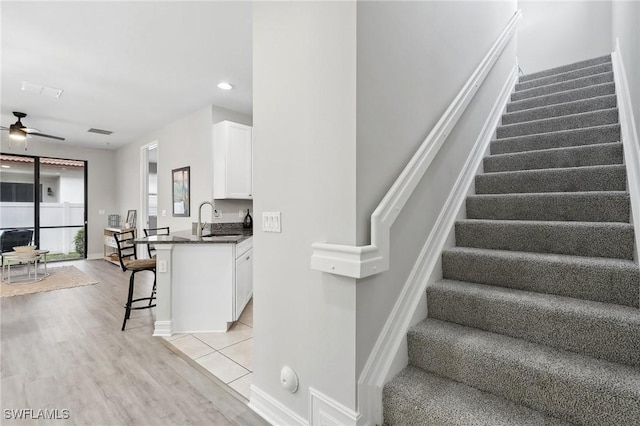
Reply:
[[[249,400],[253,378],[253,299],[226,333],[174,334],[165,339]]]

